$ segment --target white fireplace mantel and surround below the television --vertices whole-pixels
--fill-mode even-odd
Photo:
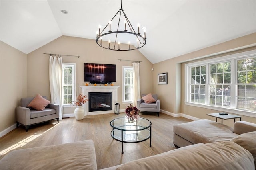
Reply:
[[[108,111],[92,111],[89,112],[88,104],[89,102],[86,102],[84,104],[84,110],[85,115],[99,115],[99,114],[106,114],[106,113],[114,113],[114,104],[117,103],[117,89],[120,86],[80,86],[82,88],[82,94],[88,97],[89,92],[112,92],[112,110]]]

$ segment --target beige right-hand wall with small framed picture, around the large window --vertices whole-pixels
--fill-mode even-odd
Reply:
[[[185,90],[185,61],[195,61],[196,59],[206,59],[213,57],[220,57],[231,53],[238,53],[242,51],[249,51],[256,49],[256,33],[246,35],[231,41],[227,41],[218,45],[207,47],[192,53],[181,55],[173,59],[168,59],[160,63],[154,64],[153,82],[157,82],[157,74],[168,72],[168,84],[158,85],[154,83],[154,92],[158,93],[161,100],[161,109],[171,113],[184,113],[200,119],[211,119],[206,113],[220,112],[216,110],[204,109],[201,107],[188,106],[184,104],[184,90]],[[246,48],[248,46],[254,46]],[[242,48],[242,50],[238,50]],[[238,50],[238,51],[234,51]],[[217,55],[225,51],[225,54]],[[233,52],[228,52],[233,51]],[[215,54],[215,55],[213,55]],[[256,118],[242,116],[242,120],[256,123]],[[226,124],[231,125],[233,120],[227,120]]]

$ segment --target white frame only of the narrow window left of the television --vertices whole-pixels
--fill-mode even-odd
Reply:
[[[72,68],[72,85],[73,85],[73,89],[72,89],[72,94],[74,94],[72,96],[72,101],[76,100],[76,63],[62,63],[62,68],[63,67],[71,67]],[[63,99],[64,99],[64,76],[63,76],[63,69],[62,69],[62,106],[63,107],[72,107],[73,105],[71,104],[63,104]]]

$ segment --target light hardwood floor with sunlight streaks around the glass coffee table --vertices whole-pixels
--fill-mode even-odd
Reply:
[[[192,121],[163,113],[160,113],[159,117],[154,113],[140,113],[140,117],[152,122],[152,147],[149,147],[149,139],[140,143],[124,143],[124,154],[121,154],[121,143],[110,136],[112,127],[109,124],[112,119],[118,117],[125,117],[125,113],[90,115],[80,121],[70,117],[60,123],[52,120],[49,123],[34,125],[28,132],[20,126],[0,138],[0,159],[11,150],[92,139],[98,169],[107,168],[176,149],[172,143],[172,126]]]

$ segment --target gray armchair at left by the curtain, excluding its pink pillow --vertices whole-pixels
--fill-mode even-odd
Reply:
[[[46,99],[46,96],[42,96]],[[16,123],[17,128],[19,124],[26,127],[26,132],[28,131],[29,126],[35,125],[38,123],[50,121],[56,119],[59,123],[59,105],[58,104],[48,104],[44,110],[34,110],[30,107],[27,107],[28,104],[34,98],[21,98],[21,106],[16,107]]]

